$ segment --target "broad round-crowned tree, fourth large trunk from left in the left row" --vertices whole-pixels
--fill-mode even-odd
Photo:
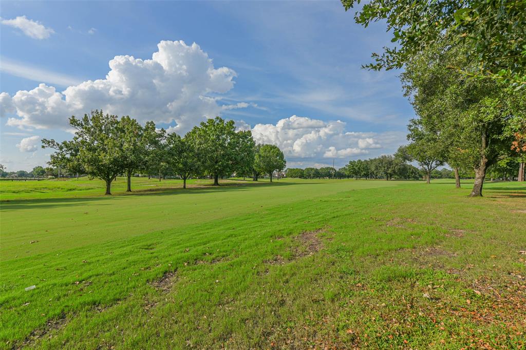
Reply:
[[[195,126],[185,138],[195,149],[201,169],[214,178],[214,186],[219,186],[220,176],[230,176],[244,167],[243,161],[250,159],[248,136],[251,139],[250,131],[236,132],[233,120],[216,117]]]

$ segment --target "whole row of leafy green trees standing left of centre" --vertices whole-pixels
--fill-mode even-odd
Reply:
[[[141,126],[133,118],[101,110],[82,119],[73,116],[69,124],[76,130],[72,140],[42,140],[43,148],[55,150],[49,164],[104,180],[106,194],[111,194],[112,182],[120,174],[126,175],[131,191],[135,173],[153,173],[159,181],[179,176],[186,188],[189,177],[209,176],[219,186],[220,178],[234,173],[256,181],[268,174],[272,181],[272,173],[286,166],[277,146],[256,145],[249,130],[236,131],[234,121],[219,117],[201,122],[184,137],[157,129],[153,121]]]

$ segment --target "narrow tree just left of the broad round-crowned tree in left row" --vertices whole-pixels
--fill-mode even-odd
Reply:
[[[186,180],[199,171],[195,149],[188,139],[181,138],[175,132],[166,138],[166,149],[170,169],[183,179],[183,188],[186,189]]]

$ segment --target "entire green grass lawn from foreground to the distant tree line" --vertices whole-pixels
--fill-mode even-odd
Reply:
[[[526,346],[524,184],[89,181],[0,183],[1,347]]]

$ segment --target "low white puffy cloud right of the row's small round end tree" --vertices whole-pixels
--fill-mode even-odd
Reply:
[[[292,116],[279,120],[276,125],[257,124],[252,135],[258,143],[277,145],[292,159],[297,158],[348,158],[368,153],[370,148],[381,146],[373,133],[347,132],[346,123],[322,121]]]

